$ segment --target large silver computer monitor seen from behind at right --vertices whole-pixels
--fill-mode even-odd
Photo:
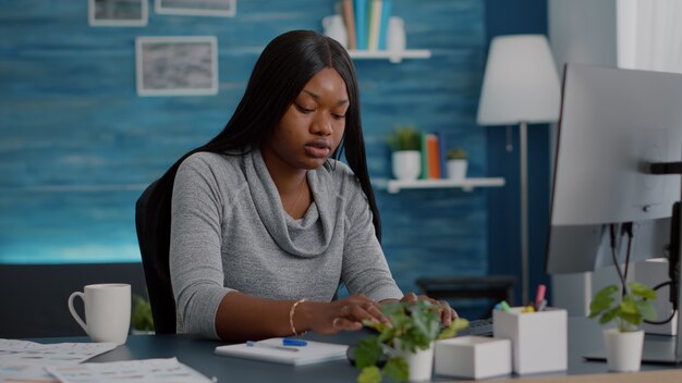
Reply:
[[[682,176],[653,174],[650,165],[679,161],[682,74],[568,64],[547,272],[594,271],[613,264],[612,249],[618,262],[624,262],[629,242],[631,261],[678,255],[666,248],[671,237],[680,235],[671,215],[673,203],[682,197]],[[679,257],[671,264],[678,262]],[[679,274],[672,276],[679,281]],[[671,285],[680,307],[680,284]],[[678,341],[671,341],[666,356],[646,356],[645,347],[644,360],[680,361],[682,342]]]

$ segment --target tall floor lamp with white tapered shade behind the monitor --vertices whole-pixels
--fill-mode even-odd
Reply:
[[[520,125],[521,291],[524,305],[529,301],[527,124],[556,122],[559,119],[559,76],[544,35],[498,36],[492,39],[477,123]]]

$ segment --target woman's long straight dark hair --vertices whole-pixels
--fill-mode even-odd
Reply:
[[[350,102],[345,114],[345,131],[332,156],[339,159],[345,151],[345,160],[367,196],[376,236],[381,240],[379,211],[367,171],[357,77],[353,62],[346,50],[336,40],[313,30],[292,30],[276,37],[267,45],[254,66],[242,100],[224,128],[206,145],[180,158],[150,186],[147,203],[153,206],[148,206],[147,211],[151,209],[155,212],[156,217],[151,221],[156,222],[148,224],[155,225],[159,246],[162,247],[162,243],[168,244],[170,239],[170,205],[180,163],[198,151],[224,153],[259,147],[308,81],[327,67],[334,69],[345,82]]]

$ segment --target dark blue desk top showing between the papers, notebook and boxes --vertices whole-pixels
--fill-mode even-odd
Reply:
[[[308,334],[306,338],[321,342],[354,344],[365,334],[346,332],[321,336]],[[647,335],[648,336],[648,335]],[[32,339],[39,343],[88,342],[87,337],[51,337]],[[206,376],[217,378],[218,382],[355,382],[358,370],[348,361],[331,361],[319,365],[292,367],[266,361],[239,359],[217,356],[214,349],[224,343],[198,339],[186,335],[133,335],[123,346],[105,355],[90,359],[94,362],[120,361],[149,358],[176,357],[181,362],[202,372]],[[602,348],[601,328],[587,318],[569,320],[569,370],[556,373],[524,375],[522,378],[562,376],[574,374],[594,374],[607,372],[606,362],[585,361],[582,355]],[[681,366],[642,365],[642,370],[674,369]],[[495,381],[504,381],[501,376]],[[448,376],[434,376],[435,382],[455,381]]]

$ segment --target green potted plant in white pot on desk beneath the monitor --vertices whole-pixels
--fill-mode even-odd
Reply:
[[[599,317],[600,324],[616,321],[614,329],[604,330],[609,370],[640,371],[644,331],[642,322],[656,319],[651,300],[656,292],[638,282],[630,282],[620,299],[620,288],[609,285],[600,289],[589,305],[589,318]]]

